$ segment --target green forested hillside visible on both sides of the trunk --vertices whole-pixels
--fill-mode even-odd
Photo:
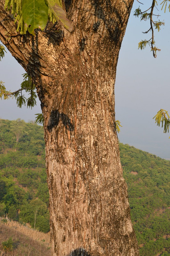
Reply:
[[[0,123],[0,216],[49,231],[43,127]],[[168,256],[170,161],[120,143],[141,256]]]

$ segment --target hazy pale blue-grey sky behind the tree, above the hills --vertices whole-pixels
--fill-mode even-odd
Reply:
[[[161,108],[170,114],[170,13],[159,11],[160,20],[165,26],[160,32],[155,31],[156,46],[161,49],[156,59],[148,46],[138,50],[138,42],[150,39],[151,34],[143,34],[149,29],[149,22],[140,22],[133,16],[134,10],[140,5],[143,11],[148,9],[151,0],[135,1],[128,27],[120,50],[115,85],[116,120],[120,120],[119,140],[131,146],[150,152],[162,158],[170,159],[170,133],[163,133],[153,116]],[[162,1],[158,1],[162,2]],[[160,10],[158,6],[158,10]],[[15,91],[23,81],[25,70],[8,52],[0,62],[0,80],[7,90]],[[17,107],[16,100],[0,100],[0,118],[14,120],[24,119],[26,122],[35,120],[35,114],[41,113],[37,100],[35,108]]]

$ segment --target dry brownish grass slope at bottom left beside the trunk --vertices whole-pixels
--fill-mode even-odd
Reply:
[[[9,238],[15,242],[12,251],[4,250],[2,242]],[[33,228],[22,226],[15,221],[3,223],[0,220],[0,256],[49,256],[50,235]]]

